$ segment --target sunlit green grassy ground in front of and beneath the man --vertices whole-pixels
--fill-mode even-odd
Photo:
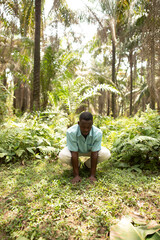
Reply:
[[[72,170],[56,160],[1,165],[0,239],[108,239],[124,215],[159,222],[158,173],[102,163],[95,184],[80,173],[82,182],[72,185]]]

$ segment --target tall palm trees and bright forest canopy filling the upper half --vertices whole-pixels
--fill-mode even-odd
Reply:
[[[159,0],[85,1],[78,11],[55,0],[46,9],[44,0],[1,1],[1,120],[46,109],[113,117],[160,110]],[[86,25],[94,27],[89,41]]]

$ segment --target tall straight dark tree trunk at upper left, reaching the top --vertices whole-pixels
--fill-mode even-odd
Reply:
[[[40,109],[40,25],[41,25],[41,0],[35,0],[35,42],[34,42],[34,78],[32,110]]]

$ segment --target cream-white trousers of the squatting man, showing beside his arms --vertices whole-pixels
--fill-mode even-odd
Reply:
[[[90,157],[91,152],[79,153],[79,156]],[[101,150],[98,151],[98,163],[108,160],[110,158],[110,156],[111,156],[110,151],[105,147],[101,147]],[[68,147],[63,148],[59,153],[60,161],[62,163],[68,164],[70,166],[72,166],[71,157],[72,157],[72,155],[71,155],[71,152],[68,150]],[[85,165],[88,168],[91,168],[91,159],[90,158],[85,162]]]

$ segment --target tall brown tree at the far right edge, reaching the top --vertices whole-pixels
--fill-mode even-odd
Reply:
[[[160,110],[158,92],[159,39],[160,39],[160,5],[159,0],[142,1],[144,21],[142,26],[142,54],[147,59],[147,84],[150,94],[150,107]]]

